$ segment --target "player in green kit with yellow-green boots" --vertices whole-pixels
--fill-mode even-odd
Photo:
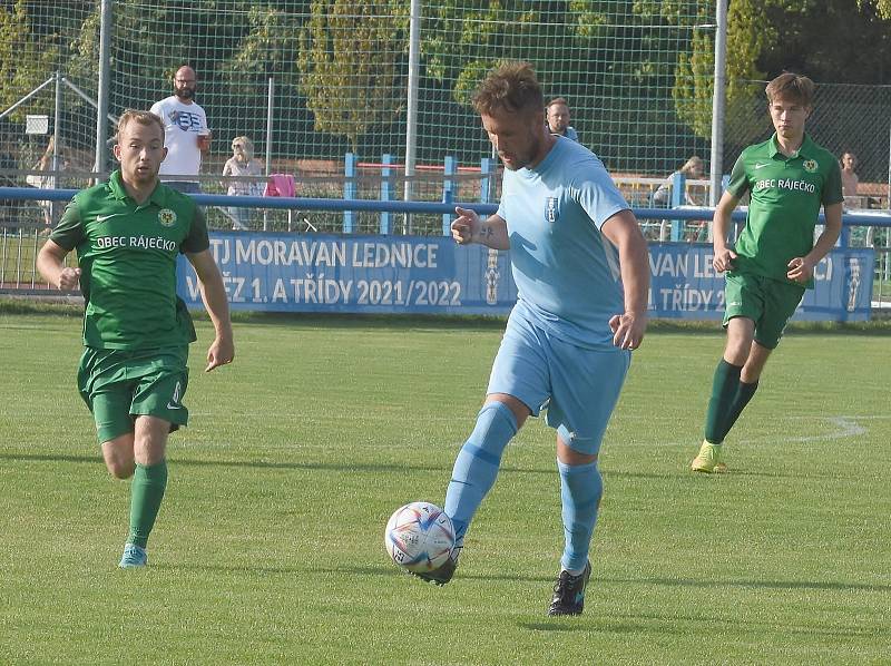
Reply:
[[[755,394],[783,329],[805,288],[813,287],[814,266],[842,228],[839,163],[804,131],[813,90],[813,81],[791,72],[767,85],[767,109],[776,131],[743,150],[715,209],[713,265],[727,273],[727,342],[715,370],[705,440],[691,466],[697,472],[726,471],[724,438]],[[731,214],[746,193],[751,203],[745,228],[731,248]],[[825,227],[814,243],[821,206]]]

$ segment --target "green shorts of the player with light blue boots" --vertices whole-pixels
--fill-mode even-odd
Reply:
[[[163,350],[99,350],[80,358],[77,385],[92,412],[99,442],[134,431],[136,417],[170,423],[170,432],[188,422],[183,395],[188,385],[188,345]]]

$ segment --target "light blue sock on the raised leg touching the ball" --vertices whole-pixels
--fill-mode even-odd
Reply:
[[[482,499],[495,484],[501,453],[517,434],[517,419],[503,402],[488,402],[477,415],[477,425],[454,460],[452,479],[446,491],[446,513],[454,525],[456,543],[464,532]]]

